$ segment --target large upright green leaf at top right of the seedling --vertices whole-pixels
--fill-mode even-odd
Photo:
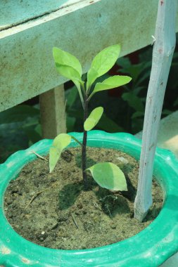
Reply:
[[[94,83],[96,78],[108,72],[115,65],[120,54],[120,44],[108,46],[98,53],[91,63],[91,68],[87,74],[87,89]]]

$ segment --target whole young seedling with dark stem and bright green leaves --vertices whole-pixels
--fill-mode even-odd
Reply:
[[[61,157],[61,153],[70,144],[71,139],[74,139],[82,147],[82,176],[85,190],[89,188],[87,171],[91,172],[96,183],[103,188],[109,190],[127,190],[125,174],[123,174],[117,165],[111,162],[101,162],[87,169],[87,131],[90,131],[96,126],[103,114],[103,108],[98,107],[88,115],[89,100],[99,91],[122,86],[129,83],[132,79],[128,76],[115,75],[105,79],[103,82],[97,82],[94,86],[96,79],[113,67],[119,54],[120,44],[109,46],[98,53],[91,63],[91,67],[87,73],[87,83],[85,83],[82,81],[82,66],[79,60],[60,48],[53,48],[53,58],[57,71],[64,77],[72,80],[75,86],[77,86],[84,109],[84,135],[82,143],[68,133],[60,133],[56,136],[49,150],[49,169],[50,172],[53,171],[58,159]]]

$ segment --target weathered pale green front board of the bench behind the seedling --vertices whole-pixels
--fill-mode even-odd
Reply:
[[[53,46],[75,54],[86,72],[106,46],[122,44],[123,56],[151,44],[158,0],[72,2],[0,32],[0,111],[66,81],[53,65]]]

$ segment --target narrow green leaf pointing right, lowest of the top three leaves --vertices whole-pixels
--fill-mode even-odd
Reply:
[[[115,75],[115,76],[109,77],[108,79],[105,79],[103,82],[98,82],[96,86],[94,87],[94,91],[91,93],[91,95],[93,96],[94,93],[98,91],[113,89],[115,87],[128,84],[131,80],[132,78],[128,76]]]

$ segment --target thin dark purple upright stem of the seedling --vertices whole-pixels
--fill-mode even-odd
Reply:
[[[84,122],[88,117],[88,103],[89,100],[87,99],[87,93],[84,97]],[[87,167],[87,131],[84,130],[84,136],[83,136],[83,143],[82,143],[82,176],[84,180],[84,190],[88,190],[88,181],[87,181],[87,173],[86,173],[86,167]]]

